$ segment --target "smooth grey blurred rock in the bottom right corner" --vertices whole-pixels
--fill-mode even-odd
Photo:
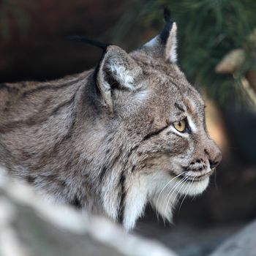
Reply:
[[[255,256],[256,220],[227,239],[210,256]]]

